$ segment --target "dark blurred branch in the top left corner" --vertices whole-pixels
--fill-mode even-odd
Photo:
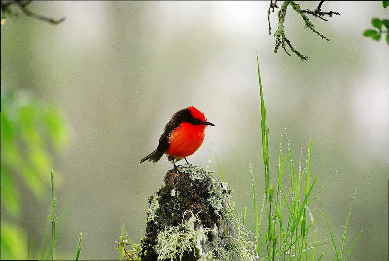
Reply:
[[[5,24],[8,16],[18,17],[18,13],[11,9],[11,6],[13,5],[18,6],[26,16],[51,23],[53,25],[57,25],[66,19],[66,17],[62,17],[61,19],[57,20],[39,15],[27,8],[27,5],[29,5],[30,3],[31,1],[1,1],[1,25]]]

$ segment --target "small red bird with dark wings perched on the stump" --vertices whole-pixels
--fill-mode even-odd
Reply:
[[[177,111],[166,124],[165,131],[159,138],[157,149],[144,157],[140,164],[146,160],[156,163],[163,154],[167,154],[167,159],[173,162],[174,168],[176,168],[174,162],[183,158],[188,163],[186,157],[200,148],[207,125],[214,126],[211,122],[207,122],[204,113],[195,107]]]

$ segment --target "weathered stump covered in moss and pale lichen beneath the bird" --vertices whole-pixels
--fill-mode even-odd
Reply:
[[[168,171],[165,183],[149,197],[142,260],[254,259],[227,183],[192,165]]]

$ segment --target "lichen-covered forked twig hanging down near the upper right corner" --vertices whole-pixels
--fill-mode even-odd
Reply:
[[[278,48],[280,47],[280,45],[283,47],[283,50],[285,50],[285,52],[290,56],[290,54],[288,53],[288,51],[286,50],[286,44],[289,46],[290,50],[292,52],[294,52],[302,61],[307,61],[308,60],[308,57],[307,56],[304,56],[302,55],[299,51],[297,51],[293,45],[291,44],[290,40],[288,38],[286,38],[285,36],[285,27],[284,27],[284,22],[285,22],[285,17],[286,17],[286,10],[288,8],[288,6],[292,6],[293,10],[295,10],[296,13],[298,13],[302,19],[304,20],[305,22],[305,27],[306,28],[309,28],[312,30],[312,32],[320,35],[320,37],[322,39],[326,39],[327,41],[329,41],[330,39],[328,39],[327,37],[325,37],[324,35],[320,34],[320,32],[318,32],[316,29],[315,29],[315,26],[312,24],[312,22],[309,20],[308,16],[306,14],[310,14],[310,15],[313,15],[314,17],[318,17],[324,21],[328,21],[327,19],[324,19],[323,16],[327,15],[329,17],[332,17],[332,15],[339,15],[340,14],[338,12],[333,12],[333,11],[329,11],[329,12],[322,12],[321,11],[321,5],[323,4],[324,1],[320,1],[320,3],[318,4],[318,7],[314,10],[314,11],[311,11],[309,9],[305,9],[305,10],[302,10],[300,5],[295,3],[295,1],[284,1],[283,2],[283,5],[280,7],[280,10],[278,12],[278,28],[276,30],[276,32],[274,32],[274,37],[276,38],[276,43],[275,43],[275,48],[274,48],[274,52],[277,52],[278,51]],[[268,10],[268,21],[269,21],[269,34],[271,34],[271,27],[270,27],[270,9],[272,9],[272,12],[274,13],[274,9],[275,8],[278,8],[278,6],[276,5],[277,1],[275,1],[273,3],[273,1],[270,1],[270,6],[269,6],[269,10]]]

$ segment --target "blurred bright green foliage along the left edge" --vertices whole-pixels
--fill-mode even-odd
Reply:
[[[30,92],[6,91],[1,96],[1,205],[6,218],[20,220],[22,184],[36,199],[47,194],[52,155],[68,143],[69,131],[59,109],[33,98]],[[6,223],[3,229],[3,219],[2,215],[1,259],[18,259],[12,246],[18,245],[23,252],[20,246],[25,244],[17,242],[22,228]]]

